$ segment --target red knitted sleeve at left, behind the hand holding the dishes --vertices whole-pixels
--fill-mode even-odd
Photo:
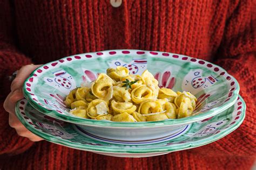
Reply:
[[[17,154],[25,151],[33,143],[24,137],[19,137],[16,131],[10,128],[9,114],[3,108],[3,103],[10,92],[11,82],[8,76],[31,60],[18,52],[14,41],[14,18],[11,9],[12,1],[0,1],[0,154]]]

